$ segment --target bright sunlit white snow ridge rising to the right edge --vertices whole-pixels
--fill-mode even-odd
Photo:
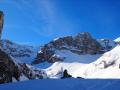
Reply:
[[[56,62],[46,72],[50,78],[60,78],[64,70],[75,78],[120,79],[120,45],[90,64]]]

